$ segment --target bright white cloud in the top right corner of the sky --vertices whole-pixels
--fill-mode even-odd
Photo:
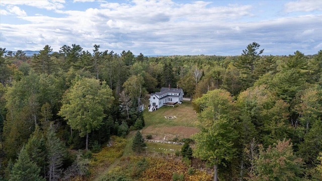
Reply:
[[[296,1],[288,2],[284,5],[284,11],[290,12],[311,12],[311,11],[322,11],[322,1]]]

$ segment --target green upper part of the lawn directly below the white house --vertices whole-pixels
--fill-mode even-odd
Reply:
[[[186,126],[195,127],[197,120],[196,111],[192,108],[191,102],[183,102],[177,107],[163,106],[153,112],[147,110],[143,113],[145,127],[172,127],[172,126]],[[166,119],[165,116],[176,116],[177,119]]]

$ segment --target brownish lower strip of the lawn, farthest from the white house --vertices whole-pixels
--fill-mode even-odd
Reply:
[[[189,138],[191,135],[199,131],[198,128],[185,127],[185,126],[173,126],[173,127],[153,127],[149,126],[144,128],[143,136],[150,134],[153,140],[165,140],[171,141],[173,138]]]

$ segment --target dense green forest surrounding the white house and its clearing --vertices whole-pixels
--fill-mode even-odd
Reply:
[[[322,50],[264,48],[158,57],[100,45],[46,45],[33,56],[0,48],[0,179],[90,175],[91,153],[142,129],[139,106],[170,84],[193,100],[200,132],[190,157],[209,165],[212,179],[321,180]]]

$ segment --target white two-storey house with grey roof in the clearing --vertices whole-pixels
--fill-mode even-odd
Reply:
[[[183,90],[182,88],[171,88],[162,87],[160,92],[156,92],[155,94],[151,94],[149,101],[149,111],[155,111],[156,109],[162,106],[173,106],[177,103],[181,103],[183,100]]]

